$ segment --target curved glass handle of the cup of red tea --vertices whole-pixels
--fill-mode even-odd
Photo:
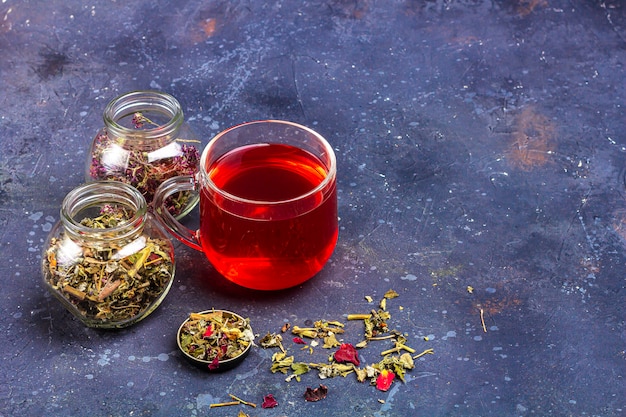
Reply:
[[[196,180],[192,176],[169,178],[157,188],[153,200],[153,212],[158,221],[178,240],[190,248],[202,251],[202,245],[195,231],[183,226],[165,206],[167,199],[180,191],[197,192]]]

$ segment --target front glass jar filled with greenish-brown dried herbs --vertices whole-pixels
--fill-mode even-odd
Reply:
[[[143,195],[118,181],[81,185],[63,200],[42,257],[45,286],[89,327],[145,318],[174,279],[174,248]]]

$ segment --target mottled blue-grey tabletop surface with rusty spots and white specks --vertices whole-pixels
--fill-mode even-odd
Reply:
[[[0,416],[625,415],[625,7],[1,0]],[[341,231],[317,277],[240,290],[178,245],[164,303],[115,332],[46,293],[44,241],[104,106],[148,88],[205,142],[265,118],[328,138]],[[176,350],[190,311],[230,309],[265,334],[345,321],[390,288],[390,325],[435,353],[388,392],[354,375],[286,382],[262,349],[222,374]],[[328,397],[305,402],[320,382]],[[209,409],[229,393],[279,406]]]

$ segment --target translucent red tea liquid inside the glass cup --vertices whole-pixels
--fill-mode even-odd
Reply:
[[[312,192],[327,176],[318,158],[289,145],[258,144],[205,168],[219,189],[239,199],[206,185],[200,196],[200,241],[222,275],[274,290],[322,269],[337,242],[337,194],[334,178]]]

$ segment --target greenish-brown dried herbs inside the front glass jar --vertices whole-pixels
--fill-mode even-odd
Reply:
[[[120,207],[105,206],[81,224],[92,229],[115,227],[132,217]],[[140,235],[125,245],[85,243],[65,233],[50,239],[43,262],[45,281],[53,293],[75,308],[89,324],[139,318],[169,288],[174,262],[169,242]]]

